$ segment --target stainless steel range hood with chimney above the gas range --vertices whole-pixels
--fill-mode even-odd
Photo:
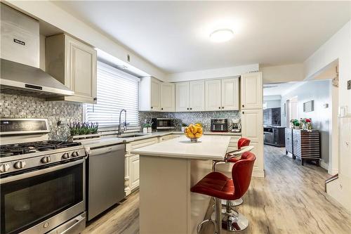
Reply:
[[[1,3],[1,93],[72,96],[64,84],[39,68],[39,22]]]

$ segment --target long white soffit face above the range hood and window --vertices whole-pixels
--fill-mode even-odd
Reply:
[[[46,21],[49,24],[58,27],[60,30],[63,30],[82,41],[86,41],[86,43],[91,44],[96,48],[100,48],[102,51],[110,53],[110,55],[119,58],[126,63],[128,63],[126,55],[129,54],[131,56],[131,62],[129,64],[133,67],[138,67],[138,69],[143,70],[153,77],[157,77],[157,79],[165,79],[164,72],[158,67],[133,53],[133,51],[121,46],[118,41],[110,39],[110,37],[98,32],[85,22],[78,20],[74,15],[70,15],[50,1],[6,1],[6,4],[31,15],[33,18]]]

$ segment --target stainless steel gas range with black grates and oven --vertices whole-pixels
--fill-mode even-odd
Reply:
[[[1,233],[80,233],[86,150],[48,141],[47,119],[0,119]]]

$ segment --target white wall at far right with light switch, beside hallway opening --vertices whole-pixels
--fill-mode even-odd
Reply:
[[[325,44],[315,51],[305,61],[305,77],[309,79],[322,70],[326,65],[338,60],[339,65],[339,100],[338,105],[346,105],[349,115],[351,111],[351,90],[347,90],[347,80],[351,79],[351,21],[347,22],[336,34]],[[344,126],[340,123],[345,118],[339,119],[339,128]],[[350,127],[350,124],[348,125]],[[350,139],[345,134],[339,134],[338,173],[339,178],[327,185],[327,191],[331,197],[343,204],[351,212],[351,164],[350,150],[345,145],[350,145]],[[349,147],[350,148],[350,147]]]

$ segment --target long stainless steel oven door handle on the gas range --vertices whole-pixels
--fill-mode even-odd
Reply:
[[[85,160],[82,159],[82,160],[77,160],[77,161],[74,161],[74,162],[68,162],[66,164],[60,164],[60,165],[54,166],[54,167],[48,167],[48,168],[45,168],[45,169],[39,169],[37,171],[29,171],[27,173],[19,174],[19,175],[16,175],[16,176],[8,176],[6,178],[1,178],[0,184],[12,182],[12,181],[18,181],[18,180],[20,180],[22,178],[29,178],[29,177],[33,177],[33,176],[39,176],[39,175],[42,175],[42,174],[46,174],[48,172],[57,171],[57,170],[64,169],[64,168],[67,168],[67,167],[72,167],[74,165],[81,164],[84,161]]]

